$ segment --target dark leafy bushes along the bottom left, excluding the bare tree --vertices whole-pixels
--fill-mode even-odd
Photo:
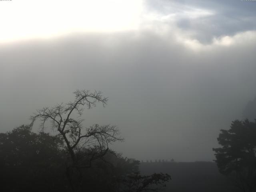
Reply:
[[[158,191],[170,180],[168,174],[140,175],[138,161],[111,150],[93,161],[98,155],[93,149],[81,150],[81,166],[73,167],[63,141],[54,136],[33,133],[24,125],[1,133],[1,191]]]

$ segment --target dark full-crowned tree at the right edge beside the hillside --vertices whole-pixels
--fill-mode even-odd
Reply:
[[[256,187],[256,121],[235,120],[229,130],[220,130],[216,163],[222,174],[229,176],[242,191]]]

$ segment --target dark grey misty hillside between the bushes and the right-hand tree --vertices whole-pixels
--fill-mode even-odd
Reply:
[[[164,192],[236,192],[237,188],[218,172],[214,162],[141,163],[142,174],[168,173],[172,180]]]

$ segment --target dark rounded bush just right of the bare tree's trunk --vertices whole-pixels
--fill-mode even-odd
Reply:
[[[138,172],[138,165],[138,161],[131,161],[120,154],[108,151],[103,158],[95,160],[92,167],[84,170],[86,172],[82,182],[84,190],[123,192],[125,178]],[[85,183],[90,185],[84,185]]]

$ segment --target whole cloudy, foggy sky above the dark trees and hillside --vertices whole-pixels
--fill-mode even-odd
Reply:
[[[109,98],[84,126],[112,124],[138,160],[212,161],[220,129],[256,96],[256,1],[0,1],[0,132],[36,109]],[[38,128],[34,127],[37,132]]]

